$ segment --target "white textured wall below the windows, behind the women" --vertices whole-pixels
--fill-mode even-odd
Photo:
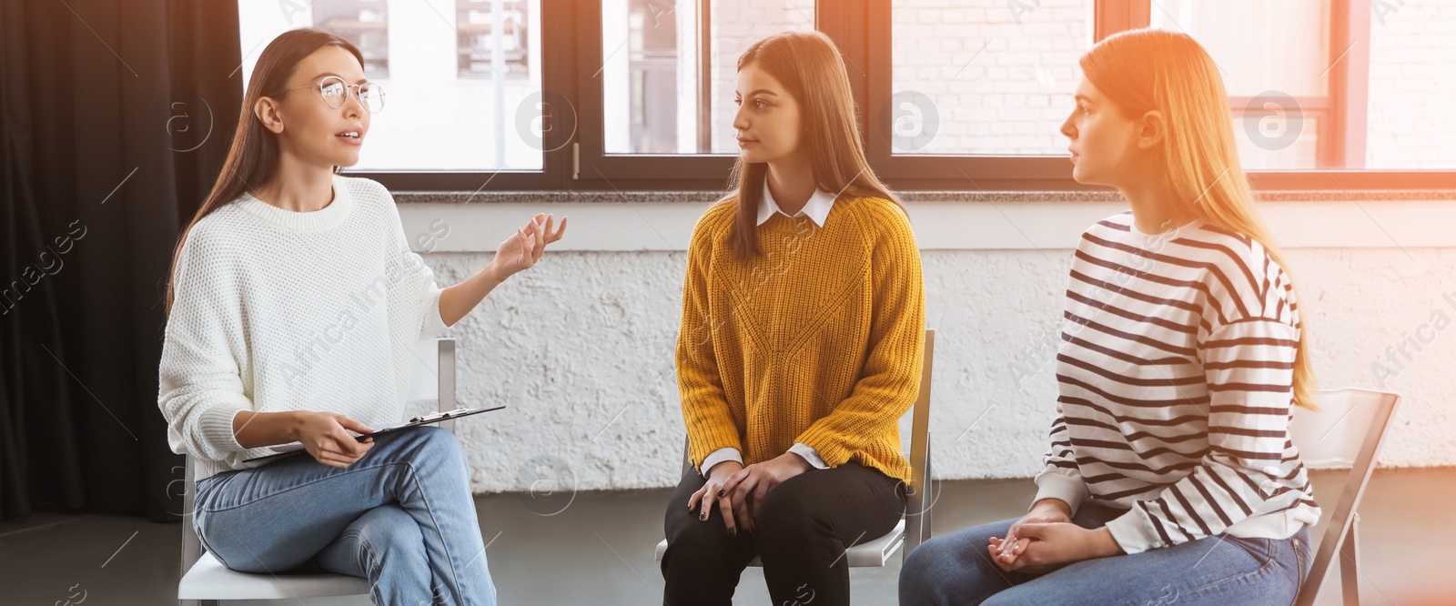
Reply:
[[[1070,248],[1082,227],[1120,205],[909,207],[927,323],[938,331],[936,476],[1029,476],[1040,469],[1056,399],[1051,355]],[[561,251],[451,329],[460,339],[462,401],[510,405],[457,427],[475,491],[521,491],[540,479],[577,489],[676,485],[684,436],[673,374],[681,249],[703,208],[400,204],[416,248],[435,251],[425,259],[441,284],[483,267],[491,258],[483,251],[530,213],[572,217]],[[1456,465],[1456,331],[1433,322],[1456,319],[1456,201],[1264,202],[1262,210],[1290,246],[1322,385],[1379,387],[1372,366],[1380,363],[1392,371],[1386,389],[1406,396],[1382,463]],[[1396,353],[1399,369],[1386,348],[1408,339],[1423,351],[1406,345],[1409,360]],[[558,460],[540,469],[540,456]]]

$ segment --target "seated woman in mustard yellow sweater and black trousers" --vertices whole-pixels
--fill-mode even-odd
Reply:
[[[734,96],[734,186],[687,253],[677,377],[696,469],[667,507],[664,602],[729,605],[757,555],[775,605],[847,605],[844,549],[903,513],[920,253],[827,36],[756,42]]]

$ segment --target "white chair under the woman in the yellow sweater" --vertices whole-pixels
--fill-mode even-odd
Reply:
[[[935,358],[935,331],[925,331],[925,363],[920,366],[920,392],[916,396],[914,408],[910,409],[910,489],[906,501],[906,514],[887,535],[858,543],[844,551],[844,559],[850,568],[879,568],[890,561],[895,551],[901,551],[901,562],[910,556],[914,548],[930,539],[930,505],[935,503],[930,479],[930,367]],[[687,456],[687,444],[683,444],[683,475],[693,471],[693,462]],[[657,559],[662,559],[667,552],[667,539],[657,543]],[[748,562],[751,567],[763,565],[757,556]]]

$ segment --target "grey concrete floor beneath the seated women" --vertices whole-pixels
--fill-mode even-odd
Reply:
[[[1318,472],[1316,498],[1334,510],[1344,472]],[[1028,479],[942,482],[936,532],[1021,514]],[[662,538],[670,491],[582,492],[555,516],[523,495],[478,497],[491,574],[502,605],[652,605],[662,577],[652,549]],[[1456,605],[1456,468],[1386,469],[1361,505],[1364,605]],[[1316,529],[1316,536],[1322,529]],[[13,605],[163,605],[179,578],[179,524],[137,517],[35,514],[0,524],[0,602]],[[894,605],[900,559],[850,574],[855,605]],[[1321,605],[1338,605],[1331,574]],[[734,600],[769,602],[750,568]],[[306,600],[367,605],[363,597]]]

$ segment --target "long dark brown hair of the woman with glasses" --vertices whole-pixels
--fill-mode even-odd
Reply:
[[[237,130],[233,133],[233,144],[227,149],[227,159],[223,160],[223,170],[213,184],[213,191],[207,200],[182,229],[176,249],[172,251],[172,269],[167,272],[166,313],[172,315],[172,287],[176,280],[178,258],[182,255],[182,245],[202,217],[232,202],[245,191],[255,191],[269,182],[278,168],[278,135],[264,128],[264,122],[253,114],[258,99],[278,95],[293,77],[298,63],[312,55],[319,48],[341,47],[364,64],[364,55],[352,42],[317,28],[298,28],[282,32],[264,52],[258,55],[252,79],[248,80],[248,92],[243,95],[243,111],[237,117]],[[335,166],[335,172],[342,168]]]

